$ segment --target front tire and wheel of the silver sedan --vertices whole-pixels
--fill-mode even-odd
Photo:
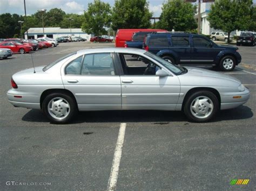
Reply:
[[[218,98],[211,91],[197,91],[185,100],[184,114],[192,122],[208,122],[218,111]]]

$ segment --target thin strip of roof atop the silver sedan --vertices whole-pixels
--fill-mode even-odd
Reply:
[[[137,54],[141,53],[144,54],[146,51],[144,49],[138,48],[90,48],[90,49],[83,49],[77,51],[78,54],[84,53],[107,53],[107,52],[120,52],[120,53],[130,53],[130,54]]]

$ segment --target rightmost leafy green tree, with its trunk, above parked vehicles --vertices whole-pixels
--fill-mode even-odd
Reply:
[[[218,0],[211,5],[207,20],[214,29],[228,33],[234,30],[248,30],[252,22],[252,0]],[[254,21],[255,22],[255,21]]]

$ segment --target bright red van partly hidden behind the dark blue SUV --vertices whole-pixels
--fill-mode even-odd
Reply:
[[[139,31],[167,32],[166,30],[161,30],[161,29],[119,29],[117,30],[117,35],[116,35],[116,47],[124,47],[125,41],[132,40],[133,33],[139,32]]]

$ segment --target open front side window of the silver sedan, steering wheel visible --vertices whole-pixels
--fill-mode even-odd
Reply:
[[[156,75],[160,67],[143,56],[120,54],[125,75]]]

